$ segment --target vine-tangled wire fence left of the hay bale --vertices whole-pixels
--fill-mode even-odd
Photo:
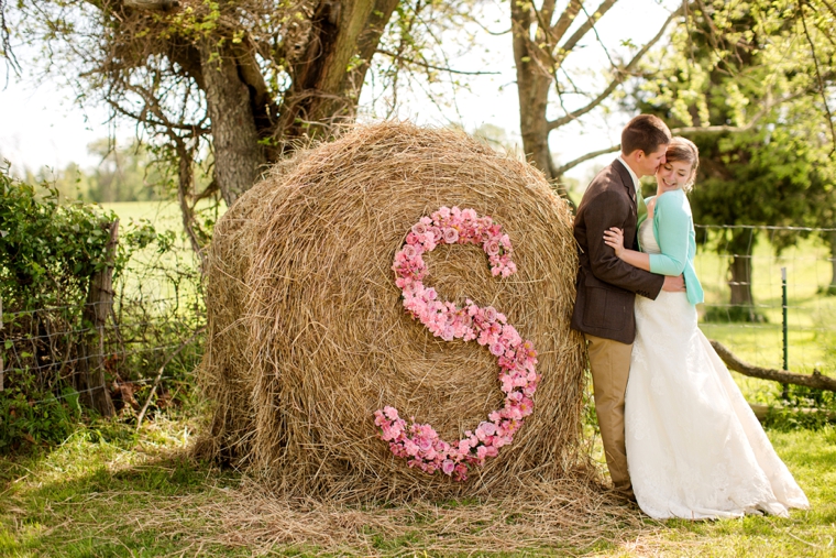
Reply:
[[[81,319],[97,304],[12,313],[0,308],[0,390],[25,391],[30,405],[77,401],[101,390],[77,389],[75,381],[97,365],[103,369],[105,389],[117,411],[125,405],[139,411],[134,394],[148,384],[191,383],[202,349],[201,336],[195,335],[205,321],[200,300],[185,305],[182,297],[117,297],[109,319],[98,328]]]

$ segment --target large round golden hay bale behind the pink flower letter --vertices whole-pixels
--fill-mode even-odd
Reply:
[[[442,245],[425,255],[425,284],[507,315],[534,341],[542,374],[514,444],[463,483],[409,469],[373,418],[393,405],[458,440],[504,401],[495,358],[433,337],[395,285],[406,233],[441,206],[493,217],[518,272],[493,277],[480,248]],[[219,221],[207,270],[201,378],[217,384],[206,386],[217,451],[234,448],[285,492],[331,497],[496,494],[564,478],[583,389],[581,337],[569,329],[571,222],[541,174],[450,130],[356,128],[266,178]]]

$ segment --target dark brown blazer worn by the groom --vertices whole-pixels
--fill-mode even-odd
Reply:
[[[638,250],[636,201],[632,177],[615,160],[586,188],[574,222],[580,267],[571,326],[628,344],[636,338],[635,295],[654,299],[664,283],[663,275],[623,262],[604,243],[604,231],[618,227],[624,229],[624,245]]]

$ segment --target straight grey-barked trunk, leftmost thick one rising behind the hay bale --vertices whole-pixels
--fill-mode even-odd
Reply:
[[[232,51],[216,48],[210,40],[205,41],[200,45],[200,67],[212,122],[215,178],[229,207],[255,184],[264,154],[258,145],[250,90]]]

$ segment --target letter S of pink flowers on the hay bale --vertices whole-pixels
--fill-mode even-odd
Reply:
[[[409,467],[429,474],[440,469],[464,481],[469,467],[483,464],[486,458],[496,457],[499,448],[513,441],[522,420],[534,412],[530,397],[540,375],[535,371],[534,343],[524,340],[493,306],[480,308],[468,300],[464,308],[459,308],[438,300],[436,291],[424,286],[427,267],[421,254],[435,249],[437,243],[481,244],[492,274],[507,277],[517,271],[510,258],[510,240],[490,217],[480,218],[473,209],[442,207],[413,226],[406,245],[395,254],[392,266],[396,284],[403,288],[404,308],[413,318],[444,340],[475,339],[497,358],[505,404],[488,414],[490,422],[480,423],[475,433],[468,430],[464,438],[453,444],[442,440],[428,424],[413,422],[407,427],[398,411],[391,406],[375,411],[374,424],[381,428],[381,439],[389,442],[392,452],[405,458]]]

